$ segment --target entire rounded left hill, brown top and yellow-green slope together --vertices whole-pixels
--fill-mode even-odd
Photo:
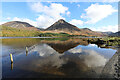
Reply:
[[[40,34],[40,29],[26,22],[11,21],[0,25],[2,37],[36,37]]]

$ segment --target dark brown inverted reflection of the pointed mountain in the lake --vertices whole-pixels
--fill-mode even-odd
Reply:
[[[64,53],[71,48],[74,48],[78,45],[88,45],[87,41],[83,41],[82,39],[69,39],[67,41],[56,41],[56,42],[46,42],[49,46],[51,46],[58,53]]]

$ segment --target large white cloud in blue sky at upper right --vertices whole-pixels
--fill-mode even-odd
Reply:
[[[81,18],[85,18],[88,21],[86,23],[96,23],[114,12],[117,12],[111,5],[99,5],[98,3],[92,4],[87,9],[85,9],[85,14],[83,13]]]

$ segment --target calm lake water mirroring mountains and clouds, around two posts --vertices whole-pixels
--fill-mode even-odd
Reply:
[[[25,47],[28,47],[28,53]],[[3,78],[96,78],[116,49],[100,48],[85,38],[2,39]],[[9,54],[13,54],[11,64]]]

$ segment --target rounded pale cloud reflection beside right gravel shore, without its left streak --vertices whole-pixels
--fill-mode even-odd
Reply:
[[[104,66],[107,62],[107,59],[104,58],[104,56],[93,50],[85,50],[84,52],[87,53],[87,55],[83,55],[80,57],[84,58],[84,62],[88,67]]]

